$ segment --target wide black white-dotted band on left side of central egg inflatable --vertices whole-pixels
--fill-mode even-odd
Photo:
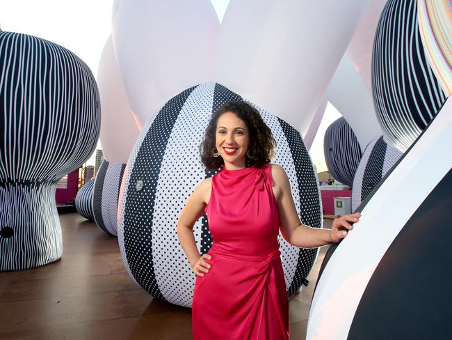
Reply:
[[[131,170],[124,210],[124,248],[131,275],[158,300],[165,300],[154,275],[152,217],[163,155],[177,116],[195,87],[172,98],[150,125]],[[136,190],[138,180],[143,189]],[[169,261],[169,259],[168,259]]]

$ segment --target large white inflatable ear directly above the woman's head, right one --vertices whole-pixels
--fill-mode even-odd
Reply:
[[[230,1],[216,82],[294,127],[309,123],[369,1]]]

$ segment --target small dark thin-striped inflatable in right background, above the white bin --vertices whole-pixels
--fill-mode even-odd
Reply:
[[[351,187],[361,160],[361,147],[344,117],[331,123],[323,139],[325,163],[335,180]]]

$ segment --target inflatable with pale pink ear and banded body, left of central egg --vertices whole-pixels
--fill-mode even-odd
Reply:
[[[97,73],[102,103],[100,143],[105,160],[94,185],[93,214],[102,231],[117,235],[118,196],[122,174],[141,127],[140,119],[131,111],[124,91],[113,40],[106,40]]]

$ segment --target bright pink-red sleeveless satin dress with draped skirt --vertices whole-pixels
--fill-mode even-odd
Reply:
[[[212,177],[211,269],[196,277],[193,339],[289,339],[289,303],[269,164]]]

